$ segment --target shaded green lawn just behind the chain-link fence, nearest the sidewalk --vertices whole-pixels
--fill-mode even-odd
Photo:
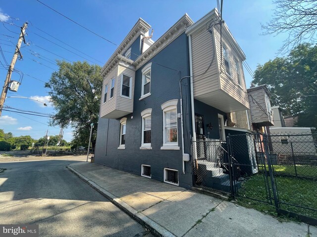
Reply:
[[[317,209],[317,181],[296,177],[275,176],[277,192],[280,202]],[[270,184],[270,180],[269,180]],[[238,202],[246,207],[254,208],[265,213],[276,216],[274,205],[270,205],[266,198],[264,175],[256,174],[248,177],[238,190]],[[266,203],[254,201],[250,197]],[[271,195],[273,199],[273,195]],[[307,210],[286,204],[280,204],[281,209],[292,211],[301,215],[317,219],[317,211]]]

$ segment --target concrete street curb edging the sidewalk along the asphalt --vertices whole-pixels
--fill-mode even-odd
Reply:
[[[84,182],[89,184],[91,187],[93,187],[97,192],[99,192],[104,197],[109,199],[114,205],[119,207],[121,210],[123,210],[125,213],[127,213],[129,216],[131,216],[141,225],[146,227],[153,235],[157,237],[176,237],[175,235],[170,233],[168,230],[166,230],[164,227],[160,226],[158,223],[151,220],[146,215],[138,212],[133,207],[129,206],[126,202],[122,201],[120,198],[110,194],[104,188],[100,187],[99,185],[97,185],[96,183],[94,183],[93,181],[91,181],[90,179],[82,175],[81,173],[79,173],[73,167],[67,165],[66,168],[69,169],[71,172],[73,172],[75,175],[77,175]]]

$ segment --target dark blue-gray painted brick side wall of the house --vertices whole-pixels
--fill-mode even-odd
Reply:
[[[151,67],[151,95],[139,100],[142,88],[142,69],[152,62]],[[163,66],[166,67],[163,67]],[[95,160],[97,163],[112,168],[141,175],[141,165],[151,165],[153,179],[163,181],[163,169],[178,170],[179,186],[192,187],[191,161],[185,162],[185,174],[182,173],[182,136],[181,121],[177,119],[178,146],[180,150],[160,150],[163,145],[163,114],[161,105],[169,100],[177,99],[177,113],[180,113],[180,77],[189,75],[188,38],[185,33],[168,44],[135,72],[135,87],[133,113],[125,116],[126,142],[125,149],[118,150],[120,135],[120,118],[100,118],[97,132]],[[176,71],[175,71],[176,70]],[[177,71],[180,71],[178,73]],[[183,80],[183,110],[185,153],[190,154],[190,88],[189,79]],[[151,147],[152,150],[140,150],[142,117],[141,112],[152,109],[151,114]]]

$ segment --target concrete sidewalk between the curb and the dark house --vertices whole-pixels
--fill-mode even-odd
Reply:
[[[317,237],[316,227],[281,223],[232,202],[103,165],[81,162],[67,168],[158,236]]]

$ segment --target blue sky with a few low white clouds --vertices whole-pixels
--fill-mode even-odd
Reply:
[[[216,7],[216,0],[41,1],[115,44],[121,43],[140,17],[154,29],[155,41],[185,13],[196,22]],[[270,0],[223,0],[223,20],[246,54],[246,62],[253,71],[258,64],[264,64],[277,56],[276,52],[285,38],[283,35],[261,35],[261,23],[270,20],[274,7]],[[37,0],[1,1],[0,20],[6,22],[0,22],[0,46],[8,63],[14,52],[19,27],[29,22],[26,31],[29,45],[22,43],[23,60],[17,60],[15,64],[15,68],[22,71],[24,77],[17,92],[8,91],[4,103],[15,109],[53,114],[54,109],[49,103],[48,89],[44,87],[44,82],[58,69],[54,61],[89,59],[89,63],[103,66],[116,49],[114,44],[74,24]],[[1,56],[0,61],[4,64]],[[0,64],[1,83],[6,72]],[[244,70],[244,74],[249,88],[252,77],[247,70]],[[20,76],[13,73],[11,79],[20,80]],[[34,139],[45,136],[47,130],[49,135],[59,134],[60,128],[49,126],[48,121],[49,118],[2,111],[0,129],[5,133],[12,132],[14,136],[31,135]],[[64,139],[71,141],[71,127],[64,129]]]

